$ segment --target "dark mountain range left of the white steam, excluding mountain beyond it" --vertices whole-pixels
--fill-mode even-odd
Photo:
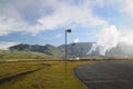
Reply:
[[[91,49],[94,42],[79,42],[79,43],[70,43],[68,44],[68,56],[86,56],[89,50]],[[65,53],[65,46],[54,47],[52,44],[39,46],[39,44],[27,44],[20,43],[17,46],[12,46],[9,50],[18,50],[18,51],[35,51],[45,53],[48,56],[57,56],[63,57]]]

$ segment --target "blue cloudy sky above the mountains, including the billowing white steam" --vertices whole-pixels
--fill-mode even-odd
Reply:
[[[65,29],[72,29],[69,42],[98,42],[108,49],[133,43],[133,0],[0,0],[1,48],[59,46]]]

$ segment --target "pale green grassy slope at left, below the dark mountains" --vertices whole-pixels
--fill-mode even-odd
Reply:
[[[43,60],[58,60],[61,57],[49,56],[41,52],[33,51],[17,51],[17,50],[0,50],[0,61],[4,60],[32,60],[32,59],[43,59]]]

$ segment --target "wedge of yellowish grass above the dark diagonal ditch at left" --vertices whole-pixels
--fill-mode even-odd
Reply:
[[[0,63],[0,79],[14,76],[17,73],[25,72],[29,70],[34,70],[41,67],[42,66],[35,62],[3,62]]]

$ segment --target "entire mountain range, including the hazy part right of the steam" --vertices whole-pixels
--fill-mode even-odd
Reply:
[[[86,57],[86,56],[101,56],[99,50],[92,51],[90,55],[86,55],[92,44],[95,42],[78,42],[78,43],[70,43],[66,46],[68,56],[76,56],[76,57]],[[17,46],[12,46],[9,50],[17,50],[17,51],[34,51],[41,52],[48,56],[55,56],[55,57],[63,57],[65,53],[65,44],[61,44],[59,47],[54,47],[52,44],[39,46],[39,44],[27,44],[20,43]],[[112,48],[111,50],[105,52],[105,56],[109,57],[119,57],[119,56],[133,56],[133,46],[126,43],[117,43],[116,47]]]

